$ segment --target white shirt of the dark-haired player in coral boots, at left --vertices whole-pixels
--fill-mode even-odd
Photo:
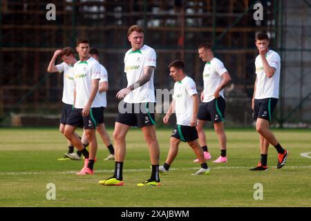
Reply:
[[[86,61],[77,61],[73,66],[75,73],[75,108],[84,108],[91,95],[92,80],[100,79],[100,63],[89,57]],[[97,92],[98,93],[98,92]],[[100,99],[95,97],[91,108],[100,107]]]

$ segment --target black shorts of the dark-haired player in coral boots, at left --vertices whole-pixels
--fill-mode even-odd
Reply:
[[[103,122],[103,108],[91,108],[86,117],[82,117],[82,108],[73,108],[68,117],[67,124],[70,126],[83,127],[84,129],[95,129],[99,122]]]

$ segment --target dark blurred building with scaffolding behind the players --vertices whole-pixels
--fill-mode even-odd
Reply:
[[[209,41],[215,55],[232,75],[226,91],[226,122],[252,124],[254,45],[256,32],[265,31],[270,48],[281,55],[280,101],[275,122],[311,122],[311,1],[248,0],[57,0],[56,19],[48,20],[50,1],[1,1],[0,9],[0,125],[58,125],[62,106],[62,75],[48,74],[53,52],[75,47],[88,37],[100,50],[109,72],[106,117],[112,126],[117,113],[117,90],[126,86],[124,52],[130,45],[129,26],[145,30],[145,44],[156,49],[156,88],[172,88],[167,65],[182,59],[186,71],[202,90],[203,62],[199,44]],[[263,20],[254,20],[255,3],[263,6]],[[58,60],[60,62],[60,59]],[[55,117],[56,115],[56,117]]]

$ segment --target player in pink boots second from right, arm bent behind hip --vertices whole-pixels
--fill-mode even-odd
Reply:
[[[211,155],[207,149],[207,142],[204,131],[204,124],[207,121],[214,122],[214,129],[218,135],[220,144],[220,156],[214,163],[227,162],[227,137],[225,134],[225,97],[223,89],[231,81],[231,77],[219,59],[214,57],[211,46],[208,43],[198,47],[198,54],[202,61],[205,61],[203,70],[204,90],[201,93],[202,104],[198,111],[198,130],[199,143],[204,151],[205,159],[209,160]],[[194,162],[198,162],[194,160]]]

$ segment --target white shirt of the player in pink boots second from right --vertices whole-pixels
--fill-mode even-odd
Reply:
[[[223,81],[221,75],[225,73],[227,69],[223,66],[223,62],[220,59],[214,57],[211,61],[207,62],[203,70],[203,81],[204,81],[204,100],[203,102],[211,102],[214,97],[214,93],[218,86]],[[220,90],[219,95],[225,98],[223,90]]]

